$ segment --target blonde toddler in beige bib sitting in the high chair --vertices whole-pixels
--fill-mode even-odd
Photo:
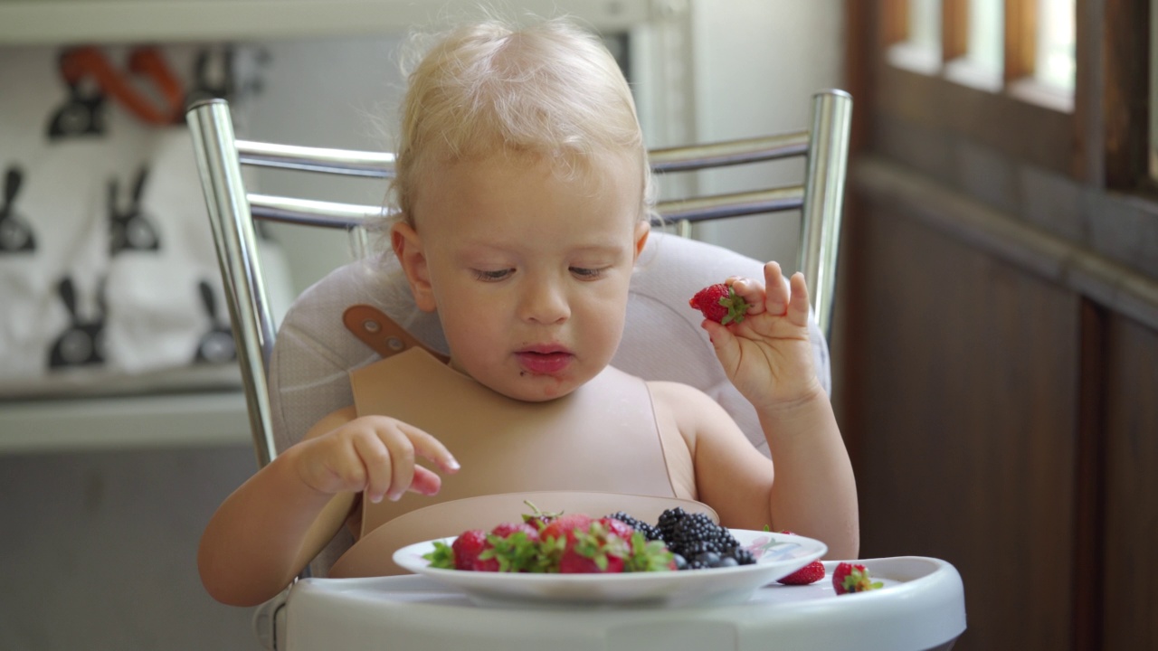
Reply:
[[[600,41],[565,20],[484,22],[445,36],[409,82],[390,241],[449,360],[413,349],[353,372],[354,404],[214,514],[198,554],[208,592],[261,604],[344,525],[361,537],[331,576],[394,571],[391,549],[528,491],[615,493],[629,512],[632,499],[703,503],[725,526],[791,529],[855,558],[856,488],[813,368],[801,275],[785,283],[771,262],[763,278],[731,278],[746,319],[703,323],[775,471],[699,390],[609,366],[651,175]]]

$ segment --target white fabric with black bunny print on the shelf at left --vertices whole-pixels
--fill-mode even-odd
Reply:
[[[212,46],[164,53],[205,86]],[[0,94],[0,397],[235,386],[188,130],[66,82],[60,57],[0,58],[0,88],[20,89]]]

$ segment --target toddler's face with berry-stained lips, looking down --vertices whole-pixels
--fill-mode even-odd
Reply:
[[[638,162],[566,180],[537,159],[432,170],[395,250],[460,371],[510,397],[566,395],[610,361],[647,237]]]

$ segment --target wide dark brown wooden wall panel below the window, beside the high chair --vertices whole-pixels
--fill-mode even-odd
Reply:
[[[957,565],[959,650],[1073,649],[1079,299],[897,212],[846,269],[862,555]]]

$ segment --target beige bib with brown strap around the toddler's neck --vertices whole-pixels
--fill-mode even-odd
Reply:
[[[676,498],[647,385],[616,368],[560,398],[523,402],[411,348],[351,372],[351,383],[359,416],[388,414],[425,430],[462,469],[444,475],[435,496],[364,502],[361,536],[331,577],[398,573],[390,555],[400,547],[516,520],[529,511],[523,499],[651,521],[670,506],[714,515]]]

